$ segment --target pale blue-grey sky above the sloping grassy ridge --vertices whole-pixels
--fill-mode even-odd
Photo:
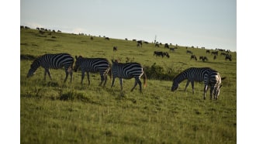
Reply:
[[[20,25],[237,51],[235,0],[21,0]]]

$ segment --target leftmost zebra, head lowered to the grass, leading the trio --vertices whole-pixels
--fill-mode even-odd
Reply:
[[[64,82],[67,81],[68,74],[71,75],[71,81],[72,81],[72,67],[74,63],[74,58],[71,57],[68,53],[57,53],[57,54],[45,54],[43,56],[40,56],[36,58],[36,60],[33,61],[33,63],[30,66],[29,73],[27,74],[27,77],[32,77],[35,71],[38,67],[44,68],[44,80],[46,80],[47,74],[50,77],[50,68],[53,69],[59,69],[64,67],[66,72],[66,77],[64,79]],[[50,80],[52,78],[50,77]]]

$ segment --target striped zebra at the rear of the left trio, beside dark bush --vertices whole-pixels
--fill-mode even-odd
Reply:
[[[140,81],[140,77],[142,75],[144,75],[144,87],[146,87],[147,76],[144,73],[143,67],[141,66],[140,63],[118,63],[117,61],[112,60],[112,84],[111,84],[111,87],[113,87],[116,77],[119,77],[121,91],[123,91],[123,78],[131,79],[134,77],[135,84],[131,91],[133,91],[133,89],[137,86],[137,84],[139,84],[140,85],[140,93],[142,93],[141,81]]]

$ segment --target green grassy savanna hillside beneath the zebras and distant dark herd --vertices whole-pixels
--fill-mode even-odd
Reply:
[[[56,38],[53,38],[56,37]],[[20,30],[20,141],[21,143],[236,143],[237,142],[237,55],[232,61],[192,49],[208,62],[190,60],[184,46],[171,53],[164,46],[124,39],[78,36],[69,33],[40,34],[35,29]],[[112,51],[118,46],[118,51]],[[207,48],[206,48],[207,49]],[[154,50],[168,51],[170,58],[154,57]],[[99,87],[99,74],[91,74],[91,85],[80,84],[81,72],[74,73],[72,83],[63,84],[64,70],[50,70],[53,80],[43,81],[43,68],[26,78],[33,57],[45,53],[70,53],[74,56],[105,57],[157,65],[174,77],[189,67],[212,67],[220,72],[223,87],[218,101],[203,100],[203,84],[195,83],[183,92],[171,92],[171,81],[150,78],[140,94],[130,92],[134,80],[124,80],[124,94],[119,81],[115,87]],[[29,59],[32,57],[32,59]],[[147,70],[146,70],[147,73]]]

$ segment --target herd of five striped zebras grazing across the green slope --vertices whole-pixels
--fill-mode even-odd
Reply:
[[[109,63],[109,60],[106,58],[85,58],[85,57],[77,57],[74,58],[71,54],[68,53],[55,53],[55,54],[44,54],[43,56],[37,57],[36,60],[30,65],[29,72],[27,77],[33,76],[36,70],[39,67],[44,68],[44,80],[46,80],[46,75],[48,74],[50,79],[50,68],[60,69],[64,67],[66,77],[64,78],[64,82],[67,81],[68,75],[71,76],[72,81],[72,70],[77,71],[78,68],[81,68],[81,84],[83,83],[85,72],[88,78],[88,84],[90,84],[89,73],[99,73],[101,77],[101,82],[99,86],[103,87],[106,85],[107,75],[109,74],[110,78],[112,78],[111,87],[113,87],[115,83],[116,77],[119,78],[121,91],[123,91],[123,79],[131,79],[135,78],[135,84],[131,91],[139,84],[140,93],[142,93],[142,84],[140,81],[140,77],[144,78],[144,87],[147,85],[147,76],[144,71],[144,68],[140,63],[119,63],[117,60],[112,60],[112,63]],[[73,67],[74,64],[74,67]],[[173,84],[171,87],[171,91],[175,91],[178,89],[178,84],[180,84],[184,80],[188,80],[185,86],[185,90],[188,87],[189,83],[192,84],[192,92],[194,94],[194,81],[203,81],[204,82],[204,96],[206,99],[206,91],[208,86],[210,87],[210,98],[218,99],[220,94],[221,80],[224,78],[220,77],[220,74],[209,67],[191,67],[187,70],[182,71],[182,73],[178,74],[173,79]],[[184,91],[185,91],[184,90]]]

